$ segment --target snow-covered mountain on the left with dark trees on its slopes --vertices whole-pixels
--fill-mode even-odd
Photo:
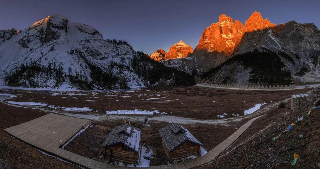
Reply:
[[[158,72],[167,69],[168,71]],[[22,30],[0,30],[0,78],[9,86],[129,89],[192,85],[186,73],[167,68],[98,30],[53,14]],[[163,83],[165,81],[165,83]]]

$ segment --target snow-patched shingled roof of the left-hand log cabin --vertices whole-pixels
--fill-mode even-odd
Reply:
[[[141,130],[125,123],[113,128],[101,147],[122,143],[132,149],[132,151],[139,153],[140,139]]]

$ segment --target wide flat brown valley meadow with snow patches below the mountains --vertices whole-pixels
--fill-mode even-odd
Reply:
[[[244,110],[258,103],[281,101],[291,94],[305,93],[310,89],[286,91],[255,91],[191,87],[152,87],[140,90],[119,91],[36,91],[0,89],[0,93],[12,93],[13,101],[42,102],[48,106],[89,107],[94,114],[108,110],[158,110],[169,115],[197,119],[219,119],[226,113],[244,114]],[[88,101],[89,100],[89,101]],[[94,102],[92,102],[94,101]],[[267,106],[266,105],[266,106]]]

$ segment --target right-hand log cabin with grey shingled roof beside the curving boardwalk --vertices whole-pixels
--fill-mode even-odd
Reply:
[[[200,156],[201,142],[178,123],[170,123],[159,130],[165,154],[170,160],[185,160]]]

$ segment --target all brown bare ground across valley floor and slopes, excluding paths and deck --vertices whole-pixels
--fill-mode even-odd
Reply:
[[[10,98],[10,100],[13,101],[42,102],[48,103],[48,106],[89,107],[94,109],[91,112],[68,113],[105,114],[107,110],[141,109],[159,110],[160,112],[167,112],[172,116],[206,120],[216,119],[217,115],[223,113],[228,114],[226,117],[231,117],[232,113],[243,115],[244,110],[253,107],[257,103],[266,102],[267,104],[264,105],[266,107],[272,105],[270,101],[281,101],[284,98],[289,98],[290,94],[305,93],[309,90],[310,89],[253,91],[192,86],[153,87],[134,91],[119,90],[103,92],[0,89],[0,93],[17,95],[17,97]],[[87,100],[95,100],[95,102]],[[263,109],[264,106],[260,109]],[[314,153],[316,150],[319,151],[316,148],[320,147],[319,142],[315,141],[319,140],[319,124],[316,124],[316,120],[301,123],[300,126],[303,126],[305,123],[305,128],[303,128],[303,130],[299,129],[298,131],[296,131],[296,129],[292,130],[286,137],[281,138],[285,140],[270,141],[270,138],[275,137],[280,131],[284,130],[286,126],[294,122],[298,116],[303,114],[302,111],[292,112],[288,107],[289,103],[287,104],[287,108],[278,109],[276,106],[268,111],[267,115],[255,121],[236,141],[233,147],[225,151],[220,158],[199,168],[272,168],[274,166],[276,166],[276,168],[288,168],[293,152],[298,152],[298,154],[300,153],[302,156],[298,166],[301,165],[300,167],[302,168],[315,167],[316,158],[319,156],[314,155]],[[44,108],[50,109],[47,106]],[[2,130],[47,114],[45,112],[45,110],[40,111],[0,103],[0,168],[76,167],[50,156],[43,155],[28,144],[12,138]],[[258,114],[254,114],[250,116],[250,118],[256,115]],[[312,115],[319,120],[318,115]],[[154,116],[156,115],[148,117]],[[202,142],[203,147],[209,151],[230,136],[250,118],[239,118],[239,121],[232,121],[232,123],[228,123],[228,125],[194,123],[183,124],[183,126]],[[70,141],[65,149],[100,161],[101,159],[98,156],[100,146],[107,138],[108,132],[121,123],[123,123],[123,119],[93,121],[93,127],[88,127],[83,133]],[[165,165],[167,164],[167,159],[161,150],[162,145],[159,142],[161,139],[158,131],[168,123],[150,120],[149,124],[151,127],[143,127],[140,121],[132,120],[132,125],[142,130],[141,144],[151,148],[154,152],[150,165]],[[312,124],[313,127],[310,127],[310,124]],[[300,133],[305,137],[300,138]],[[297,138],[297,136],[299,138]],[[270,148],[271,150],[269,150]]]

